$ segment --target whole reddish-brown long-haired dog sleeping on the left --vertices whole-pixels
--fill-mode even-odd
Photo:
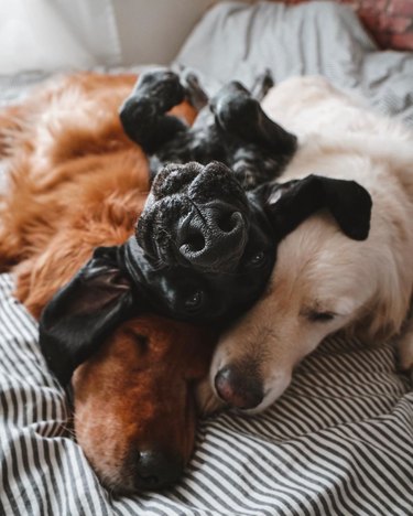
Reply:
[[[148,162],[117,112],[134,82],[64,77],[0,115],[10,168],[0,267],[15,273],[15,295],[36,318],[96,246],[133,234]],[[195,116],[187,104],[174,112],[188,122]],[[145,315],[123,323],[76,370],[76,437],[105,485],[131,492],[178,479],[194,444],[193,389],[213,342],[205,330]]]

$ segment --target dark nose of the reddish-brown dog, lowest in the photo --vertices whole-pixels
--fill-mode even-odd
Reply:
[[[142,451],[134,466],[135,484],[140,490],[154,490],[176,482],[184,464],[178,458],[160,451]]]

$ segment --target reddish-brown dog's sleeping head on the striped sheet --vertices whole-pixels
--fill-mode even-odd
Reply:
[[[75,431],[116,493],[176,482],[194,447],[194,389],[213,335],[157,316],[122,323],[73,377]]]

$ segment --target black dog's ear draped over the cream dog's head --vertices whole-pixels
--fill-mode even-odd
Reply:
[[[265,195],[265,212],[281,238],[320,208],[329,209],[349,238],[365,240],[369,235],[371,197],[355,181],[308,175],[270,185]]]

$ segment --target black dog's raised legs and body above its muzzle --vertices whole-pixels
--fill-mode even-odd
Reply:
[[[207,104],[196,77],[188,75],[184,86],[176,74],[162,68],[141,75],[120,119],[126,133],[151,157],[153,176],[167,163],[217,160],[250,190],[280,175],[296,150],[296,137],[270,120],[260,106],[272,84],[263,74],[251,94],[231,82]],[[204,106],[192,127],[166,115],[185,97]]]

